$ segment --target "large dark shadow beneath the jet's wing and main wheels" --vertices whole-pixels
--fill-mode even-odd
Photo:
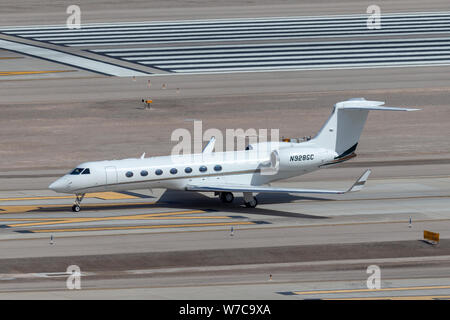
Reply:
[[[314,197],[300,197],[289,194],[271,195],[260,194],[258,195],[259,204],[278,204],[289,203],[296,200],[320,200],[330,201],[325,198]],[[243,205],[243,197],[235,197],[233,203],[222,203],[217,197],[210,198],[197,192],[185,192],[166,190],[163,195],[156,202],[158,205],[169,208],[184,208],[184,209],[208,209],[213,211],[227,211],[235,213],[253,213],[258,215],[277,216],[277,217],[290,217],[290,218],[303,218],[303,219],[328,219],[325,216],[309,215],[304,213],[295,213],[282,210],[266,209],[266,208],[247,208]]]

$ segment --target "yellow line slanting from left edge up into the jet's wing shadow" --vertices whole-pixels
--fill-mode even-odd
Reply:
[[[98,221],[113,221],[113,220],[147,220],[147,219],[167,219],[167,216],[193,214],[193,213],[204,213],[203,210],[189,210],[189,211],[172,211],[172,212],[162,212],[162,213],[149,213],[149,214],[135,214],[128,216],[116,216],[116,217],[86,217],[86,218],[67,218],[58,219],[55,218],[52,221],[45,222],[30,222],[30,223],[16,223],[9,224],[8,227],[34,227],[34,226],[45,226],[52,224],[65,224],[65,223],[80,223],[80,222],[98,222]],[[186,217],[178,217],[184,218]],[[33,219],[29,219],[32,220]]]

